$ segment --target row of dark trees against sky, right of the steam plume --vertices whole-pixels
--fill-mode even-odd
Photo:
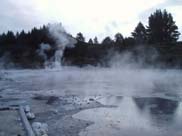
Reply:
[[[156,10],[148,18],[148,26],[145,27],[142,22],[139,22],[131,35],[124,38],[121,33],[117,33],[114,39],[108,36],[101,44],[124,44],[124,41],[128,40],[133,44],[174,43],[178,40],[180,32],[171,13],[166,10]],[[78,33],[76,39],[85,42],[82,33]],[[98,44],[97,37],[94,40],[89,39],[88,43]]]

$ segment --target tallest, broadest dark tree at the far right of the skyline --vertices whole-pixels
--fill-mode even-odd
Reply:
[[[171,13],[156,10],[149,17],[147,29],[149,43],[176,42],[180,33]]]

